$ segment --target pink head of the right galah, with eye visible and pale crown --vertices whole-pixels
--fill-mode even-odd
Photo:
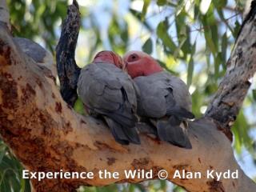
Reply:
[[[131,78],[148,76],[162,71],[162,67],[149,54],[142,51],[129,51],[122,58]]]

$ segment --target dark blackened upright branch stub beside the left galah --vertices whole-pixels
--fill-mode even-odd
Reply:
[[[74,106],[74,102],[78,99],[77,84],[81,70],[74,59],[81,20],[78,3],[75,0],[69,6],[67,14],[56,47],[56,62],[62,98],[70,106]]]

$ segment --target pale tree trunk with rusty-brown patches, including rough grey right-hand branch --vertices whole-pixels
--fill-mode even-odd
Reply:
[[[2,1],[1,1],[2,2]],[[2,6],[2,5],[1,5]],[[0,10],[1,12],[2,10]],[[0,18],[1,22],[5,22]],[[124,170],[167,170],[168,179],[188,191],[256,191],[234,159],[230,141],[215,125],[229,125],[242,105],[256,63],[255,15],[244,25],[230,57],[226,77],[207,115],[190,122],[192,150],[141,135],[141,146],[114,142],[102,122],[76,114],[63,101],[50,71],[42,70],[14,43],[0,25],[0,134],[26,169],[31,171],[92,171],[94,179],[32,179],[35,191],[72,191],[79,185],[105,186],[127,179]],[[249,40],[247,40],[249,39]],[[229,80],[230,78],[230,80]],[[242,89],[242,90],[241,90]],[[222,116],[216,114],[221,113]],[[212,119],[214,118],[214,120]],[[223,120],[222,120],[223,118]],[[222,124],[221,124],[222,125]],[[98,170],[117,171],[118,179],[98,178]],[[175,170],[199,171],[202,178],[172,178]],[[206,170],[238,170],[238,179],[206,178]]]

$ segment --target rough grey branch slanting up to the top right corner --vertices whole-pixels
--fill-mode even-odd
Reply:
[[[256,71],[256,41],[253,40],[256,37],[255,14],[256,1],[253,1],[227,62],[226,75],[205,114],[219,122],[229,138],[230,126],[238,115],[250,88],[250,78]]]

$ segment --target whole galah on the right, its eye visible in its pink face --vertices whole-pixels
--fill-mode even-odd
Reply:
[[[139,89],[138,115],[150,122],[162,141],[190,149],[187,119],[194,118],[191,97],[180,78],[164,71],[154,58],[142,51],[130,51],[123,57],[128,74]]]

